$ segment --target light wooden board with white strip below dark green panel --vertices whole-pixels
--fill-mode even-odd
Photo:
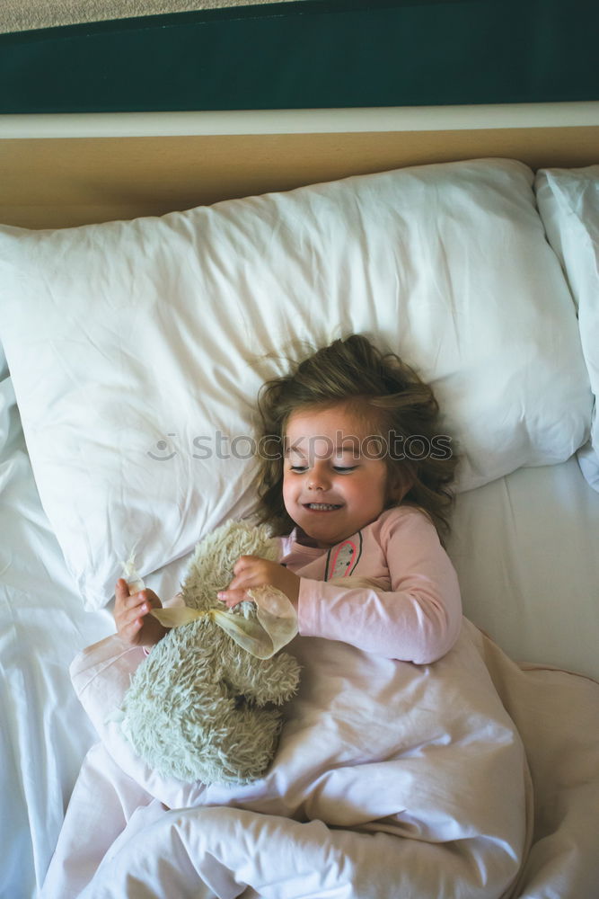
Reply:
[[[599,102],[0,117],[0,220],[162,215],[351,174],[503,156],[599,162]]]

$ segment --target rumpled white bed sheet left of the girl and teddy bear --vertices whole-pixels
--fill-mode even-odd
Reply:
[[[31,475],[10,378],[0,381],[0,896],[35,895],[94,740],[67,676],[110,633],[84,612]]]

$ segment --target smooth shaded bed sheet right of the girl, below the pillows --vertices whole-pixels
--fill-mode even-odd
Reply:
[[[599,494],[575,456],[456,497],[463,610],[515,662],[599,679]]]

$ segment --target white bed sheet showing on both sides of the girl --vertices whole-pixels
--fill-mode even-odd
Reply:
[[[92,731],[67,667],[112,630],[85,612],[40,506],[10,378],[0,382],[0,896],[43,880]],[[449,550],[465,612],[518,661],[599,676],[599,495],[574,458],[462,494]],[[176,592],[187,560],[146,582]]]

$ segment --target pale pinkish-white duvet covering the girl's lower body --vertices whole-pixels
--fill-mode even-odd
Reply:
[[[140,650],[111,637],[75,660],[103,746],[75,788],[44,899],[595,895],[594,681],[522,672],[466,620],[428,666],[320,639],[291,648],[303,681],[276,760],[240,788],[158,778],[107,722]],[[543,839],[531,850],[533,809]],[[556,864],[568,884],[557,893]],[[526,892],[531,877],[541,886]]]

